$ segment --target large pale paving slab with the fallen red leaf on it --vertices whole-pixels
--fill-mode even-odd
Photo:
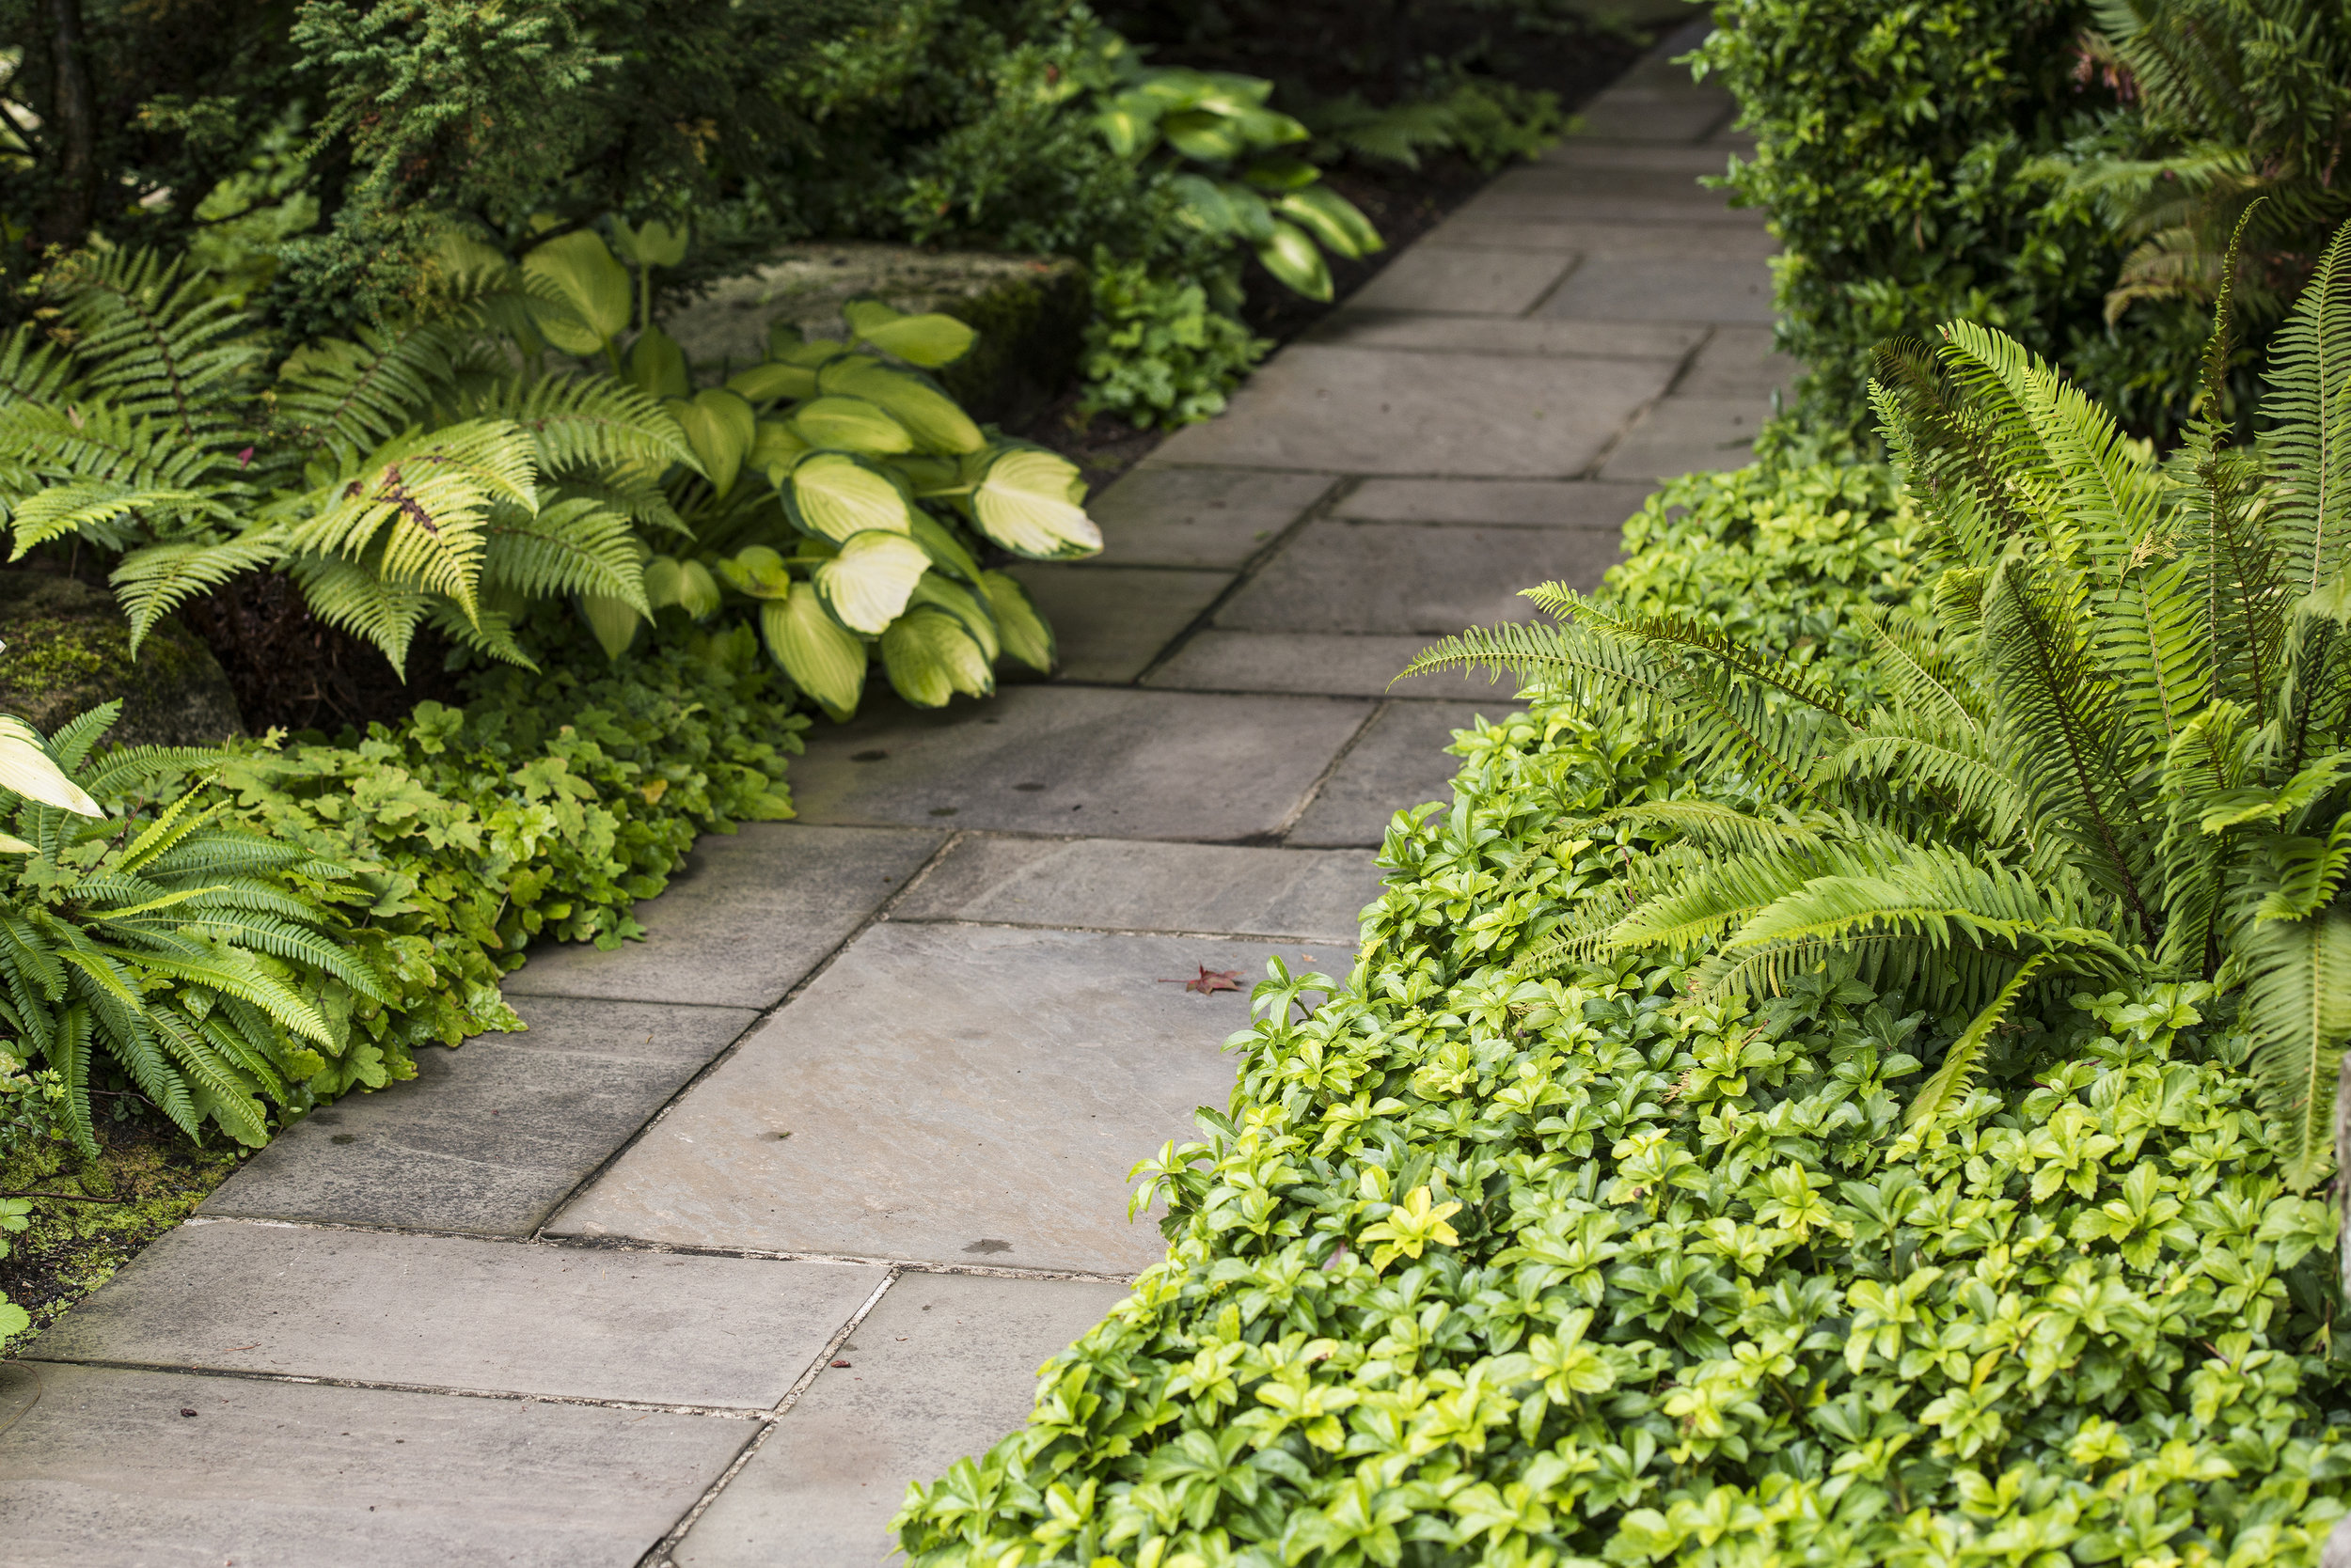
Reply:
[[[870,926],[552,1229],[1133,1274],[1126,1171],[1225,1107],[1262,940]],[[1310,950],[1312,952],[1312,950]],[[1192,994],[1201,969],[1241,990]],[[790,1133],[790,1135],[785,1135]]]

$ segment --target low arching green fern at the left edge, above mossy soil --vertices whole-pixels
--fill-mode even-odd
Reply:
[[[306,1107],[331,1079],[376,971],[294,877],[339,872],[303,849],[223,827],[207,788],[160,804],[139,790],[202,752],[92,757],[120,712],[106,703],[49,738],[0,736],[0,1025],[7,1056],[63,1081],[56,1117],[96,1152],[99,1058],[195,1135],[219,1124],[268,1140],[270,1105]],[[14,722],[12,722],[14,724]]]

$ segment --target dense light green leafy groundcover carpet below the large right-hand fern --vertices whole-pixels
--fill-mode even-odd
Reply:
[[[2316,1561],[2332,1222],[2245,1039],[2203,987],[2059,1001],[1921,1140],[1949,1027],[1850,966],[1514,976],[1646,851],[1554,827],[1688,797],[1641,733],[1554,693],[1460,738],[1354,971],[1274,959],[1230,1114],[1145,1166],[1168,1260],[910,1490],[919,1568]]]

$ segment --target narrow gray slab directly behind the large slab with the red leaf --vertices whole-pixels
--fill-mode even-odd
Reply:
[[[1354,851],[1152,839],[1004,839],[950,849],[891,919],[1357,940],[1380,867]]]

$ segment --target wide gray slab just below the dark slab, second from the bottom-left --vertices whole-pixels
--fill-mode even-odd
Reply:
[[[884,1276],[219,1220],[155,1241],[33,1354],[766,1410]]]

